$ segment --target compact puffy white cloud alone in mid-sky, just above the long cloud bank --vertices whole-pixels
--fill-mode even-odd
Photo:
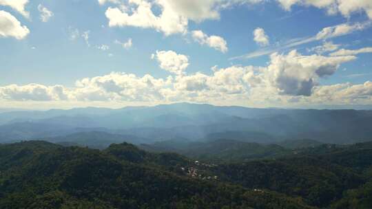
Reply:
[[[187,66],[189,66],[189,59],[187,56],[177,54],[172,50],[156,51],[156,54],[152,54],[152,58],[156,58],[159,67],[177,75],[183,74]]]

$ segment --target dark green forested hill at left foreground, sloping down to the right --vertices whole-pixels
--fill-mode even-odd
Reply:
[[[300,199],[189,177],[190,162],[130,144],[0,146],[0,208],[311,208]]]

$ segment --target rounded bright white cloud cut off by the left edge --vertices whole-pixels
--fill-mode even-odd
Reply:
[[[14,37],[15,39],[25,39],[30,30],[12,14],[0,10],[0,37]]]

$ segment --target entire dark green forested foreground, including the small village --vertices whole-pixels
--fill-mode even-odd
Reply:
[[[372,143],[240,162],[72,145],[0,145],[0,208],[372,208]]]

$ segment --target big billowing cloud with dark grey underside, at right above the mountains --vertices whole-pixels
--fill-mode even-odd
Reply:
[[[272,54],[265,74],[279,94],[310,96],[318,79],[335,73],[340,64],[353,61],[355,56],[302,56],[296,50],[287,55]]]

